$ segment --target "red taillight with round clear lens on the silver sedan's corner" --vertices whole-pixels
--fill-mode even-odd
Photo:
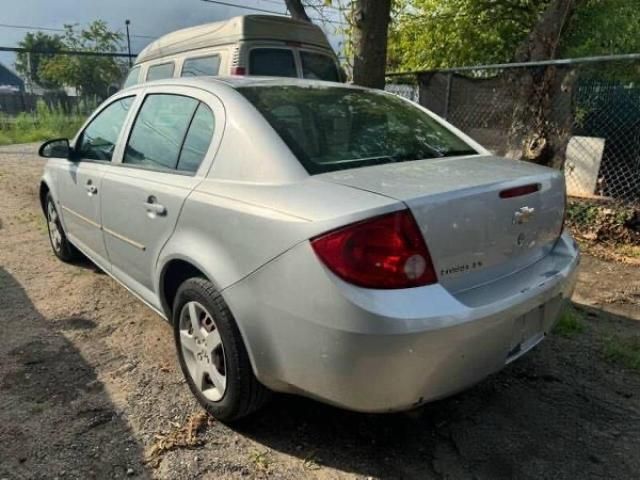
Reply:
[[[311,245],[333,273],[361,287],[410,288],[438,281],[409,210],[342,227],[312,239]]]

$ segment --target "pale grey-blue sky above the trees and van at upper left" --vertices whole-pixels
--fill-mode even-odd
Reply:
[[[284,0],[223,0],[223,3],[255,7],[284,13]],[[236,15],[261,13],[202,0],[0,0],[0,46],[15,47],[28,31],[5,25],[63,28],[64,24],[85,26],[96,19],[106,21],[113,30],[124,32],[124,21],[131,20],[131,50],[139,52],[150,38],[179,28],[215,22]],[[336,20],[338,17],[336,15]],[[334,47],[335,24],[325,26]],[[56,33],[48,31],[46,33]],[[15,57],[0,53],[0,62],[13,69]]]

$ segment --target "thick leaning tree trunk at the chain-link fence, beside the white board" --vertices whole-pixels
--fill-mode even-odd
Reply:
[[[553,0],[517,49],[516,62],[556,58],[562,32],[583,0]],[[571,133],[571,95],[575,78],[555,66],[514,69],[515,108],[510,132],[512,151],[523,160],[561,166]]]

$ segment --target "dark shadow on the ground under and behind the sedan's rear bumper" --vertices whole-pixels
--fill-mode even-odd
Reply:
[[[305,459],[311,470],[320,464],[381,478],[637,478],[640,377],[603,361],[600,340],[603,325],[638,335],[640,322],[588,310],[582,334],[551,336],[475,388],[419,411],[363,415],[282,397],[239,431]]]

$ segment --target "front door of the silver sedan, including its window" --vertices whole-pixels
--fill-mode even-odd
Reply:
[[[101,181],[122,135],[134,95],[118,98],[102,108],[78,135],[72,159],[56,172],[58,202],[71,242],[107,268],[100,221]]]

